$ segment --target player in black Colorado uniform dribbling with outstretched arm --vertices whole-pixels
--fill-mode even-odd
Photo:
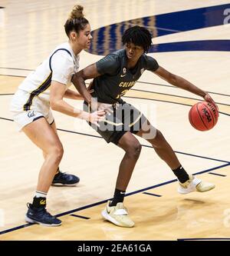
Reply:
[[[149,70],[171,85],[199,95],[213,105],[215,102],[207,92],[192,85],[186,79],[166,71],[158,65],[154,58],[146,55],[152,44],[152,37],[146,28],[140,26],[128,28],[123,34],[122,42],[125,46],[124,49],[113,52],[77,72],[72,81],[77,91],[84,97],[85,111],[104,109],[107,112],[106,119],[99,123],[100,127],[90,125],[108,143],[113,142],[125,151],[120,162],[113,200],[108,201],[102,215],[113,224],[133,227],[134,222],[123,206],[126,187],[141,151],[140,142],[133,134],[149,141],[159,158],[169,165],[179,180],[179,193],[209,191],[215,188],[215,185],[188,175],[162,133],[154,128],[139,110],[123,101],[121,97],[135,85],[143,71]],[[84,82],[90,78],[94,78],[91,87],[94,93],[91,95]]]

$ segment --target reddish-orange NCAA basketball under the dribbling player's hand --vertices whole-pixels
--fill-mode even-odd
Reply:
[[[218,110],[207,101],[196,103],[189,111],[189,122],[196,130],[208,131],[217,121]]]

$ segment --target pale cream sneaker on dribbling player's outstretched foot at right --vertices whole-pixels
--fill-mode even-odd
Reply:
[[[177,191],[179,194],[188,194],[193,191],[206,192],[215,188],[215,185],[209,182],[202,181],[192,175],[189,175],[189,180],[185,183],[179,182],[179,188]]]

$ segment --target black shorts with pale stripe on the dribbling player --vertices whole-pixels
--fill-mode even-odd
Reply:
[[[147,120],[138,109],[124,101],[117,103],[117,107],[112,106],[111,108],[113,108],[113,114],[107,114],[105,121],[99,122],[100,127],[88,123],[107,143],[113,142],[117,145],[126,131],[136,134]],[[84,111],[90,111],[86,101],[84,101]]]

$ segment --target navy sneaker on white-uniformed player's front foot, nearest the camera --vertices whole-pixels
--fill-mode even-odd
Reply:
[[[38,223],[43,226],[55,227],[61,225],[61,220],[52,216],[44,207],[33,207],[27,204],[28,211],[25,214],[25,221],[28,223]]]

